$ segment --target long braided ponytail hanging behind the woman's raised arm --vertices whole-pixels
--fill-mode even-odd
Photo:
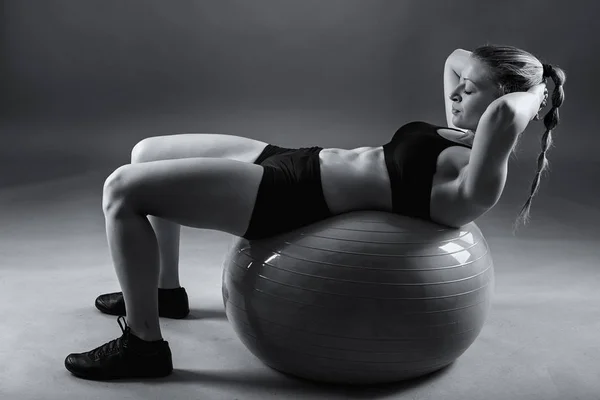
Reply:
[[[563,101],[565,100],[563,85],[566,80],[566,75],[564,71],[558,67],[553,67],[550,64],[543,64],[543,69],[543,79],[545,80],[547,77],[550,77],[554,81],[554,91],[552,92],[552,108],[544,116],[544,126],[546,127],[546,131],[544,132],[544,135],[541,139],[542,152],[538,156],[537,172],[531,185],[531,193],[529,195],[529,199],[527,199],[527,202],[523,205],[523,208],[519,213],[519,217],[517,218],[517,221],[513,226],[513,235],[515,234],[515,231],[518,228],[519,222],[524,221],[525,224],[529,222],[529,210],[531,208],[531,200],[533,199],[533,196],[535,196],[539,189],[540,178],[542,173],[549,166],[548,159],[546,158],[546,153],[552,146],[552,130],[558,125],[559,122],[558,108],[562,105]]]

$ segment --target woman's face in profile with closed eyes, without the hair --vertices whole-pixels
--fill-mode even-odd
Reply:
[[[457,128],[475,132],[487,107],[500,96],[497,85],[489,78],[488,67],[471,57],[458,86],[450,93],[452,123]]]

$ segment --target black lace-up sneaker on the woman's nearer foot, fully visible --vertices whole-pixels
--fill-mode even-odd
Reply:
[[[125,327],[121,325],[123,318]],[[162,378],[173,372],[169,342],[146,342],[131,333],[125,317],[117,318],[123,331],[120,338],[87,353],[72,353],[65,367],[75,376],[92,380]]]

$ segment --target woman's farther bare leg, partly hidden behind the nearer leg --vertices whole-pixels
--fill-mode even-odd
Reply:
[[[242,136],[218,133],[184,133],[154,136],[137,143],[131,152],[131,163],[144,163],[183,158],[227,158],[253,163],[267,143]],[[160,267],[158,287],[179,288],[179,247],[181,225],[148,215],[159,244]]]

